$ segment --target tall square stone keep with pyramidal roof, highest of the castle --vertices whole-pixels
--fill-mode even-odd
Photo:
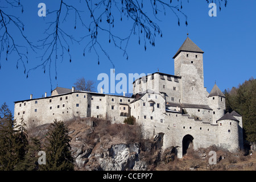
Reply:
[[[206,104],[204,89],[203,53],[191,39],[185,39],[174,55],[174,72],[181,76],[181,102]]]

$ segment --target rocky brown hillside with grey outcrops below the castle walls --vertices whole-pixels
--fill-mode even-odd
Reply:
[[[144,140],[137,125],[111,124],[96,118],[66,121],[72,138],[76,170],[256,170],[256,154],[231,154],[217,147],[189,149],[177,159],[172,148],[162,151],[154,139]],[[49,124],[35,127],[28,137],[40,139],[42,148]],[[217,164],[209,164],[209,151],[217,152]]]

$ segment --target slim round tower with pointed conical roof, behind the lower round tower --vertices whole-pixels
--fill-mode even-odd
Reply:
[[[212,124],[216,125],[217,120],[225,114],[226,107],[225,96],[216,84],[214,84],[208,96],[208,105],[213,109]]]

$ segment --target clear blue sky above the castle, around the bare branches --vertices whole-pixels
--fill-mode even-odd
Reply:
[[[23,2],[24,13],[18,15],[25,24],[24,34],[32,42],[39,40],[49,22],[48,16],[42,18],[38,16],[38,4],[46,3],[48,10],[54,10],[59,7],[59,1],[26,1]],[[79,1],[78,1],[79,2]],[[146,1],[144,1],[146,3]],[[0,0],[0,6],[4,6],[5,1]],[[238,1],[229,0],[227,7],[222,5],[221,11],[217,7],[217,16],[209,17],[210,10],[205,1],[184,1],[183,12],[188,16],[188,26],[185,26],[184,18],[180,20],[180,26],[174,14],[167,13],[166,16],[159,13],[156,21],[159,24],[163,37],[156,37],[155,47],[147,44],[147,50],[144,51],[144,44],[138,45],[138,38],[133,36],[127,47],[129,60],[122,56],[122,51],[115,48],[113,43],[108,43],[107,36],[99,36],[102,42],[106,42],[105,47],[115,66],[115,74],[125,73],[128,77],[129,73],[154,73],[159,72],[174,75],[174,60],[177,49],[187,38],[197,44],[204,53],[204,86],[208,92],[213,88],[214,81],[218,87],[224,91],[242,84],[251,76],[256,78],[256,22],[255,22],[256,1]],[[16,10],[15,10],[16,11]],[[13,9],[9,12],[15,14]],[[72,31],[71,34],[84,35],[84,29],[77,24],[74,31],[74,23],[72,18],[74,14],[69,15],[71,21],[66,23],[67,30]],[[88,21],[90,21],[89,17]],[[85,23],[86,23],[85,19]],[[128,24],[129,25],[129,24]],[[115,31],[123,32],[127,24],[115,23],[117,29]],[[69,28],[69,29],[68,29]],[[17,32],[18,34],[18,32]],[[122,34],[121,34],[122,35]],[[110,75],[110,69],[113,68],[112,63],[104,55],[100,57],[100,65],[97,64],[97,56],[95,53],[85,52],[86,56],[82,56],[82,49],[85,42],[81,44],[71,44],[72,63],[69,63],[69,56],[65,57],[62,63],[57,63],[57,80],[52,75],[52,89],[57,85],[64,88],[71,88],[73,83],[79,77],[97,81],[100,73]],[[38,54],[30,51],[28,53],[29,63],[26,64],[27,69],[40,64],[40,52]],[[26,100],[33,94],[34,98],[39,98],[47,92],[51,94],[51,84],[49,82],[48,71],[43,73],[42,69],[30,72],[28,78],[24,75],[24,69],[19,64],[16,69],[15,56],[9,57],[5,61],[5,56],[1,59],[0,70],[0,104],[6,102],[11,111],[14,111],[14,101]]]

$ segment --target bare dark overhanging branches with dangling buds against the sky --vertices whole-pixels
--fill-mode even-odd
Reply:
[[[20,10],[23,13],[23,5],[19,0],[3,0],[6,4],[16,10]],[[96,53],[97,63],[100,64],[100,55],[103,53],[105,57],[112,63],[112,58],[104,47],[104,41],[113,44],[115,47],[123,52],[123,56],[128,59],[127,46],[129,45],[131,36],[137,36],[138,44],[144,46],[146,51],[147,46],[155,46],[156,36],[162,37],[162,30],[158,26],[159,14],[173,13],[177,19],[177,24],[187,22],[187,15],[182,11],[185,0],[177,1],[162,1],[162,0],[84,0],[79,2],[60,0],[59,6],[55,10],[47,10],[47,25],[44,31],[44,36],[40,36],[39,45],[34,46],[24,35],[24,24],[15,15],[5,13],[7,7],[0,5],[0,61],[2,55],[8,55],[16,53],[18,63],[21,62],[24,67],[24,73],[28,77],[28,73],[37,68],[43,68],[43,72],[46,73],[46,69],[49,71],[49,78],[51,81],[51,68],[55,68],[55,79],[57,79],[57,61],[69,61],[72,62],[72,47],[70,45],[77,43],[84,46],[84,51],[81,55],[85,56],[86,51]],[[186,2],[186,1],[185,1]],[[187,1],[188,2],[188,1]],[[226,6],[227,0],[212,0],[207,3],[217,3],[221,10],[221,4]],[[146,7],[146,8],[145,8]],[[12,11],[13,12],[13,11]],[[14,11],[15,12],[15,11]],[[72,19],[71,14],[75,14]],[[71,20],[72,19],[72,20]],[[184,19],[184,22],[181,20]],[[84,28],[85,35],[80,38],[76,38],[67,31],[67,23],[72,24],[74,31],[77,25],[81,25],[79,28]],[[125,36],[117,34],[118,31],[114,31],[114,25],[116,23],[130,24],[130,28]],[[16,28],[15,33],[22,37],[23,41],[27,44],[16,43],[13,31],[10,31],[11,26]],[[106,40],[99,39],[100,35],[108,35]],[[21,46],[22,45],[22,46]],[[28,63],[28,48],[32,51],[39,49],[41,52],[40,64],[34,68],[26,71],[25,63]],[[4,54],[2,54],[4,53]],[[1,62],[0,62],[1,63]],[[1,68],[1,64],[0,64]]]

